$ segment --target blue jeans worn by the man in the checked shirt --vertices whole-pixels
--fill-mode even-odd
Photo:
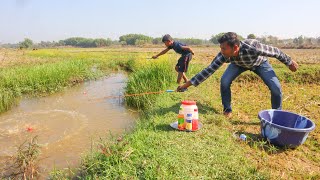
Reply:
[[[224,112],[231,112],[231,90],[232,81],[236,79],[241,73],[249,69],[240,67],[235,64],[230,64],[221,78],[220,92],[222,97],[222,105]],[[260,66],[250,69],[261,77],[263,82],[271,91],[271,106],[272,109],[282,108],[282,92],[280,82],[273,71],[273,68],[268,61],[263,62]]]

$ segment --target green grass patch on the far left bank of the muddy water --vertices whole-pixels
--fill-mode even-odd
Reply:
[[[60,61],[0,70],[0,112],[6,111],[22,95],[46,95],[102,75],[84,60]]]

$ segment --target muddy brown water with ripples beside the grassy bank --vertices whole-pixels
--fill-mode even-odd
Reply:
[[[37,135],[41,171],[76,166],[92,139],[132,127],[137,114],[121,99],[103,99],[121,94],[125,81],[123,74],[113,74],[62,93],[22,100],[0,116],[0,157],[14,155],[22,142]]]

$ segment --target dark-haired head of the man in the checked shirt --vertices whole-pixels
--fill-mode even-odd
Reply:
[[[236,33],[225,33],[218,39],[218,42],[220,43],[221,53],[223,56],[227,58],[237,56],[240,47],[240,40]]]

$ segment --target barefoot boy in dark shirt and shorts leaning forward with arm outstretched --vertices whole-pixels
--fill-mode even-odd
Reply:
[[[191,61],[194,52],[187,45],[178,41],[174,41],[169,34],[166,34],[162,37],[162,42],[167,48],[161,51],[159,54],[152,56],[152,58],[156,59],[159,56],[167,53],[170,49],[173,49],[176,53],[181,54],[181,57],[178,59],[178,63],[175,67],[176,71],[178,72],[177,83],[180,84],[182,78],[186,83],[188,78],[185,73],[188,71],[189,62]]]

